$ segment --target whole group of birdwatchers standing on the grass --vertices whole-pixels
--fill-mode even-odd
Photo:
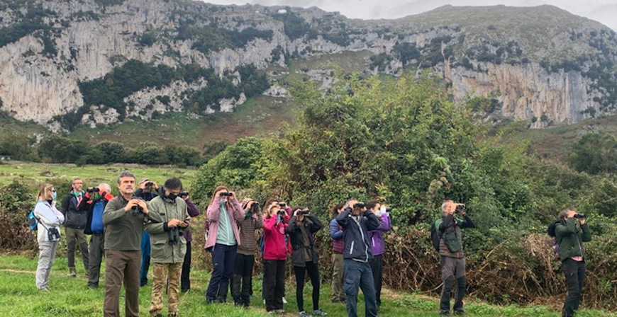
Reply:
[[[118,177],[120,195],[113,197],[108,184],[82,190],[82,180],[72,181],[72,191],[55,207],[57,192],[43,184],[37,197],[34,215],[38,220],[40,250],[36,286],[48,291],[50,270],[60,240],[60,224],[65,225],[70,275],[76,276],[74,250],[82,253],[88,287],[99,285],[101,260],[105,258],[104,316],[120,316],[121,284],[125,287],[126,316],[139,316],[140,285],[148,284],[152,265],[151,316],[162,316],[162,294],[167,290],[168,315],[177,316],[179,292],[190,289],[191,231],[193,217],[200,214],[183,191],[178,178],[170,178],[159,188],[144,178],[135,183],[135,175],[123,172]],[[263,211],[262,211],[263,209]],[[368,203],[348,200],[333,208],[330,221],[332,238],[333,302],[346,303],[348,316],[357,317],[359,290],[365,298],[365,316],[377,316],[381,305],[384,233],[391,230],[390,208],[375,200]],[[442,204],[443,217],[435,221],[438,241],[433,243],[440,254],[443,289],[440,314],[450,315],[452,291],[453,313],[462,315],[465,280],[465,253],[461,229],[474,228],[464,204],[447,200]],[[563,316],[573,316],[579,307],[584,282],[585,254],[583,241],[591,235],[585,219],[567,209],[555,223],[568,284]],[[235,192],[224,186],[213,191],[205,221],[204,248],[211,253],[212,273],[206,291],[207,303],[227,300],[229,289],[238,306],[249,306],[252,296],[252,272],[257,248],[263,263],[263,299],[266,310],[284,313],[285,267],[289,254],[296,277],[296,302],[299,316],[326,316],[319,306],[321,278],[319,255],[314,235],[323,224],[307,207],[289,207],[282,200],[271,199],[264,208],[250,198],[238,200]],[[258,234],[262,229],[262,234]],[[86,235],[90,235],[89,247]],[[259,237],[259,238],[258,238]],[[306,275],[313,286],[311,313],[304,309]],[[455,287],[456,284],[456,287]]]

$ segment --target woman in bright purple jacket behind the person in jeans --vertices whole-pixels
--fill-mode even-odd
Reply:
[[[390,231],[392,224],[390,221],[390,215],[383,211],[381,204],[377,200],[367,203],[367,209],[369,209],[377,219],[380,219],[379,226],[373,231],[369,231],[369,238],[373,247],[373,260],[371,261],[371,270],[373,272],[373,279],[375,282],[375,294],[377,297],[377,310],[382,305],[382,272],[383,272],[383,259],[382,256],[385,252],[384,246],[384,232]]]

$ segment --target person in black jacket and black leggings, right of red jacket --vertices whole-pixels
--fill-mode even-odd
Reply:
[[[296,301],[300,317],[326,316],[319,309],[319,255],[315,250],[313,234],[323,228],[323,224],[317,217],[309,212],[309,209],[296,207],[294,216],[289,219],[289,225],[285,231],[289,234],[289,241],[293,253],[291,253],[291,265],[296,273]],[[313,313],[304,311],[304,278],[309,272],[311,284],[313,284]]]

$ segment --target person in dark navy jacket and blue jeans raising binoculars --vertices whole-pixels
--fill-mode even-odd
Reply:
[[[366,212],[365,204],[350,200],[345,204],[345,210],[338,214],[336,221],[343,227],[345,249],[345,284],[343,290],[347,294],[348,317],[357,317],[358,288],[365,294],[365,316],[377,316],[377,297],[370,260],[373,250],[368,231],[377,229],[379,220],[372,212]]]

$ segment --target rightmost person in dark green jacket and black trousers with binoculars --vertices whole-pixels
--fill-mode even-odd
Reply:
[[[568,285],[568,295],[562,310],[563,317],[572,317],[579,309],[585,280],[585,249],[583,242],[591,241],[591,232],[584,215],[574,209],[565,209],[560,214],[560,223],[555,226],[559,243],[559,258]]]

